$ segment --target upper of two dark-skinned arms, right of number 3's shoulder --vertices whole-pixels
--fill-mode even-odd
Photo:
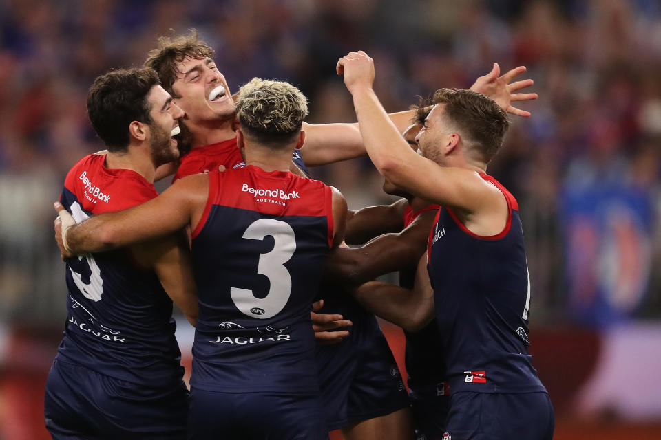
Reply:
[[[401,199],[392,205],[368,206],[349,211],[344,241],[350,245],[366,243],[375,236],[399,232],[404,227],[403,215],[408,202]]]

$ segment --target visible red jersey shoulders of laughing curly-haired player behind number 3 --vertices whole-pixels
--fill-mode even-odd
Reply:
[[[306,168],[298,150],[294,150],[292,160],[309,177],[308,168]],[[216,142],[216,144],[193,148],[181,158],[179,168],[172,178],[172,183],[191,174],[218,171],[220,165],[227,169],[245,165],[241,151],[236,144],[236,137]]]

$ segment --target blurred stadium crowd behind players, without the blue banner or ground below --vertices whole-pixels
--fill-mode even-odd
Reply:
[[[333,68],[355,47],[375,59],[388,111],[441,86],[468,87],[493,62],[526,65],[540,99],[526,104],[532,118],[513,120],[490,173],[523,206],[536,322],[565,316],[562,195],[598,184],[643,192],[659,206],[661,6],[435,0],[402,8],[393,0],[1,1],[0,316],[63,316],[47,202],[76,159],[101,146],[85,114],[92,79],[140,65],[156,36],[190,27],[216,47],[230,84],[257,75],[299,85],[311,99],[309,122],[355,118]],[[342,190],[350,208],[387,200],[368,159],[313,175]],[[653,217],[651,267],[659,230]],[[655,276],[639,308],[648,316],[661,313]]]

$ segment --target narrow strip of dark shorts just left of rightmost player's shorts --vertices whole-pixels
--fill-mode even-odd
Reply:
[[[411,389],[411,414],[416,440],[440,439],[450,412],[450,395],[444,394],[443,383]]]

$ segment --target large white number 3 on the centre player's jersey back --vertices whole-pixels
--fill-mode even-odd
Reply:
[[[254,221],[243,234],[244,239],[263,240],[270,235],[275,241],[273,250],[260,254],[257,273],[269,278],[271,287],[264,298],[255,298],[251,289],[231,288],[231,296],[237,309],[253,318],[266,319],[277,315],[289,300],[291,276],[284,263],[291,259],[296,250],[294,230],[284,221],[259,219]]]

